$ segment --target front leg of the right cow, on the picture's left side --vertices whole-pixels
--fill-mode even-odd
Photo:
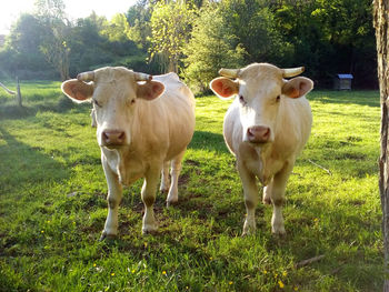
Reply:
[[[253,173],[251,173],[245,165],[238,162],[238,171],[243,185],[245,204],[247,217],[243,225],[242,235],[253,233],[256,226],[256,207],[259,201],[258,184]]]

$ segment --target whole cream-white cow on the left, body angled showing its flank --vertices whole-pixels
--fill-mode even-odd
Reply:
[[[92,122],[108,183],[109,211],[101,238],[117,235],[122,185],[140,178],[144,178],[142,231],[154,232],[160,173],[160,190],[169,190],[168,205],[178,201],[181,160],[194,131],[192,92],[174,73],[150,77],[121,67],[81,73],[63,82],[62,91],[77,102],[93,103]]]

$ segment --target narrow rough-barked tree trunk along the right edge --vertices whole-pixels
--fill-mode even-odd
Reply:
[[[377,38],[378,80],[381,103],[381,154],[379,159],[379,191],[382,208],[382,234],[385,253],[383,291],[389,292],[389,3],[388,0],[373,1]]]

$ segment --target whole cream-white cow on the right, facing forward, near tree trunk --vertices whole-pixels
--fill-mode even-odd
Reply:
[[[263,202],[273,204],[271,230],[285,234],[285,190],[296,158],[310,134],[312,114],[305,94],[313,88],[308,78],[285,78],[302,71],[303,68],[253,63],[239,70],[221,69],[219,73],[225,77],[210,83],[222,99],[237,95],[225,117],[223,134],[237,158],[243,184],[247,209],[243,234],[256,230],[257,178],[265,187]]]

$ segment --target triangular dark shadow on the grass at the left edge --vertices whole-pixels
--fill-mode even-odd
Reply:
[[[70,177],[67,168],[43,153],[42,149],[18,141],[1,127],[0,138],[7,143],[0,147],[1,189],[19,188],[24,182],[67,180]]]

